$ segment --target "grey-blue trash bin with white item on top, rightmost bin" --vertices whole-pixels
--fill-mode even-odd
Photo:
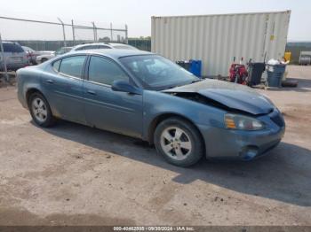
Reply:
[[[281,87],[286,65],[267,65],[267,86]]]

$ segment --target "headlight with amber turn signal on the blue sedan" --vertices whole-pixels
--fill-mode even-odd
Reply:
[[[264,129],[265,124],[241,114],[227,113],[225,115],[225,125],[228,129],[259,130]]]

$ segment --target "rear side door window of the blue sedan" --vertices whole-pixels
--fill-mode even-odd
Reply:
[[[63,58],[60,63],[60,73],[82,78],[82,70],[84,69],[84,61],[86,56],[75,56],[69,58]],[[57,62],[55,62],[55,68],[57,68]]]

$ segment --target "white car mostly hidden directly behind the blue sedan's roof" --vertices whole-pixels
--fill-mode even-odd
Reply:
[[[98,50],[98,49],[125,49],[138,50],[137,48],[124,43],[84,43],[73,47],[70,51],[76,50]]]

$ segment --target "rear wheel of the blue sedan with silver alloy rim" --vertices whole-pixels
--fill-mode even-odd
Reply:
[[[42,94],[38,92],[33,93],[29,97],[28,108],[36,125],[48,128],[54,124],[55,119],[52,116],[50,104]]]

